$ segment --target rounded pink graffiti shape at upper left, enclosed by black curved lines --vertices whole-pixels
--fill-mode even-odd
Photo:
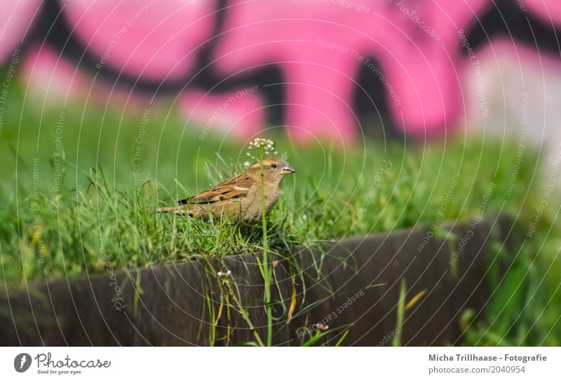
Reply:
[[[173,80],[189,74],[210,37],[215,1],[60,1],[74,33],[99,59],[128,74]]]

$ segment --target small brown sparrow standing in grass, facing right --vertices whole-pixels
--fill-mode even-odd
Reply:
[[[262,164],[257,161],[242,174],[236,174],[198,195],[184,198],[177,202],[177,206],[161,207],[156,212],[188,214],[204,220],[210,219],[211,215],[214,219],[230,216],[232,223],[251,225],[262,219],[262,189],[268,214],[280,197],[280,183],[286,175],[294,172],[295,169],[281,158],[265,158]]]

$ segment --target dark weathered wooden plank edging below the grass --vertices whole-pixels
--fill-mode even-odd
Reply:
[[[459,255],[455,271],[449,262],[457,242],[433,237],[419,252],[419,243],[426,236],[424,229],[346,239],[325,244],[322,251],[299,248],[294,258],[304,268],[305,305],[317,304],[302,312],[303,284],[297,277],[298,309],[290,324],[286,323],[286,314],[275,322],[273,341],[276,345],[299,345],[299,327],[324,321],[330,328],[351,324],[343,345],[386,344],[396,328],[400,282],[405,279],[407,301],[421,291],[426,293],[405,314],[402,343],[459,344],[461,312],[468,307],[479,312],[485,305],[487,291],[482,277],[491,255],[489,244],[508,241],[509,229],[510,222],[504,217],[478,223]],[[468,224],[453,228],[458,238],[469,230]],[[318,283],[314,280],[318,272],[312,264],[322,256],[325,279]],[[255,257],[225,258],[225,268],[217,262],[212,265],[216,271],[231,271],[241,303],[261,338],[265,338],[263,281]],[[275,274],[278,286],[273,287],[273,298],[282,298],[288,307],[292,296],[290,266],[279,259]],[[203,262],[194,261],[49,284],[36,282],[27,289],[4,289],[0,305],[9,314],[0,317],[0,343],[210,345],[213,321],[207,302],[210,298],[215,310],[219,309],[218,282]],[[369,287],[374,284],[382,285]],[[325,290],[327,285],[333,295]],[[358,298],[349,300],[356,293]],[[282,312],[279,305],[275,310]],[[231,312],[229,341],[221,340],[228,333],[227,321],[224,307],[215,330],[215,345],[255,340],[236,312]],[[330,335],[328,342],[334,344],[339,337]]]

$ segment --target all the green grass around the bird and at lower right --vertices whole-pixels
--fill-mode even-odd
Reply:
[[[217,130],[201,140],[202,127],[186,126],[175,111],[158,106],[151,107],[139,143],[142,107],[121,113],[76,102],[41,110],[29,99],[24,103],[16,88],[11,91],[0,131],[2,282],[18,286],[104,272],[107,263],[114,269],[137,268],[262,251],[260,226],[153,212],[243,170],[244,144],[222,139]],[[57,130],[61,110],[65,118]],[[506,195],[515,139],[457,137],[426,146],[367,140],[341,147],[299,146],[279,130],[265,136],[297,169],[285,180],[267,224],[273,250],[429,226],[435,219],[466,220],[478,214],[490,183],[495,187],[485,212],[511,214],[524,227],[543,193],[536,179],[538,153],[527,148],[512,193]],[[546,212],[534,238],[510,253],[516,261],[506,279],[489,275],[494,293],[486,315],[464,317],[470,327],[467,344],[558,344],[561,230],[556,215],[557,210]],[[492,266],[499,267],[497,262]]]

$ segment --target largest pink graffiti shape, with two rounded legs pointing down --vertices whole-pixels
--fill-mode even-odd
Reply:
[[[461,112],[456,72],[463,59],[456,32],[488,5],[483,0],[440,3],[370,1],[360,4],[370,7],[364,9],[331,0],[233,0],[217,67],[231,74],[280,65],[288,92],[288,125],[295,127],[294,133],[342,139],[357,132],[351,95],[356,71],[367,60],[360,57],[376,57],[381,78],[400,100],[390,106],[403,130],[439,132]],[[411,12],[417,9],[414,17],[435,29],[440,41],[421,30],[404,4],[411,4]],[[342,48],[330,50],[320,40]]]

